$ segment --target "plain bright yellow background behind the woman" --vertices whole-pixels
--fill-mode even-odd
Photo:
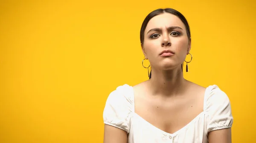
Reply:
[[[148,79],[140,26],[166,7],[191,26],[185,78],[227,93],[233,143],[255,142],[253,0],[1,0],[0,143],[102,143],[106,98]]]

